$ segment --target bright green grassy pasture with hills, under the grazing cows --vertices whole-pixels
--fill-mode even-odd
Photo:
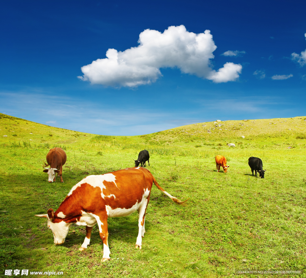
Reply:
[[[65,277],[220,277],[235,276],[238,269],[305,271],[306,121],[304,117],[252,121],[105,136],[0,114],[0,275],[4,269],[63,271]],[[50,184],[42,172],[54,146],[67,153],[64,183]],[[45,219],[34,214],[57,209],[71,187],[88,174],[133,167],[133,159],[144,148],[150,153],[147,169],[171,195],[190,198],[186,206],[174,204],[153,185],[143,248],[134,247],[136,213],[110,218],[112,260],[105,263],[100,262],[103,244],[96,226],[83,252],[78,248],[85,227],[72,226],[66,242],[54,246]],[[228,173],[216,172],[216,154],[227,158]],[[263,160],[265,179],[252,176],[250,156]]]

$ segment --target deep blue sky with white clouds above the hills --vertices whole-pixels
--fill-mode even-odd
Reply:
[[[2,2],[0,112],[105,135],[306,116],[305,8]]]

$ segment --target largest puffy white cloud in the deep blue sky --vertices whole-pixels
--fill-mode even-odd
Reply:
[[[216,79],[216,72],[211,69],[212,54],[215,45],[209,30],[195,34],[188,32],[184,25],[170,26],[163,33],[146,29],[139,35],[137,47],[124,51],[108,49],[106,58],[97,59],[81,68],[81,80],[92,84],[112,87],[137,87],[150,84],[162,76],[161,68],[179,68],[181,72],[207,78],[214,82],[236,80],[241,72],[241,65],[224,65],[218,75],[227,77]],[[226,69],[225,69],[226,68]],[[232,72],[236,69],[236,72]],[[230,71],[231,74],[226,74]],[[219,73],[220,72],[220,73]],[[232,76],[232,79],[230,79]],[[224,80],[224,81],[219,81]]]

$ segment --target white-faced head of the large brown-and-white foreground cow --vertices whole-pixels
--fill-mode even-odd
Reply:
[[[66,223],[63,219],[55,217],[53,209],[48,209],[47,214],[35,214],[35,216],[47,218],[47,226],[53,233],[55,245],[65,242],[71,223]]]

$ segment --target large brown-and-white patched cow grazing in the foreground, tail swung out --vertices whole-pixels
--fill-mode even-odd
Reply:
[[[103,257],[101,261],[110,259],[108,248],[107,218],[128,216],[139,213],[138,236],[135,248],[141,249],[144,237],[145,215],[149,203],[153,183],[177,204],[181,200],[164,191],[151,172],[145,168],[127,168],[104,175],[87,176],[72,187],[62,204],[54,212],[48,209],[47,214],[35,215],[46,217],[48,227],[53,233],[54,244],[62,244],[72,223],[86,226],[86,237],[80,251],[87,248],[90,242],[92,227],[98,223],[100,238],[103,241]]]

